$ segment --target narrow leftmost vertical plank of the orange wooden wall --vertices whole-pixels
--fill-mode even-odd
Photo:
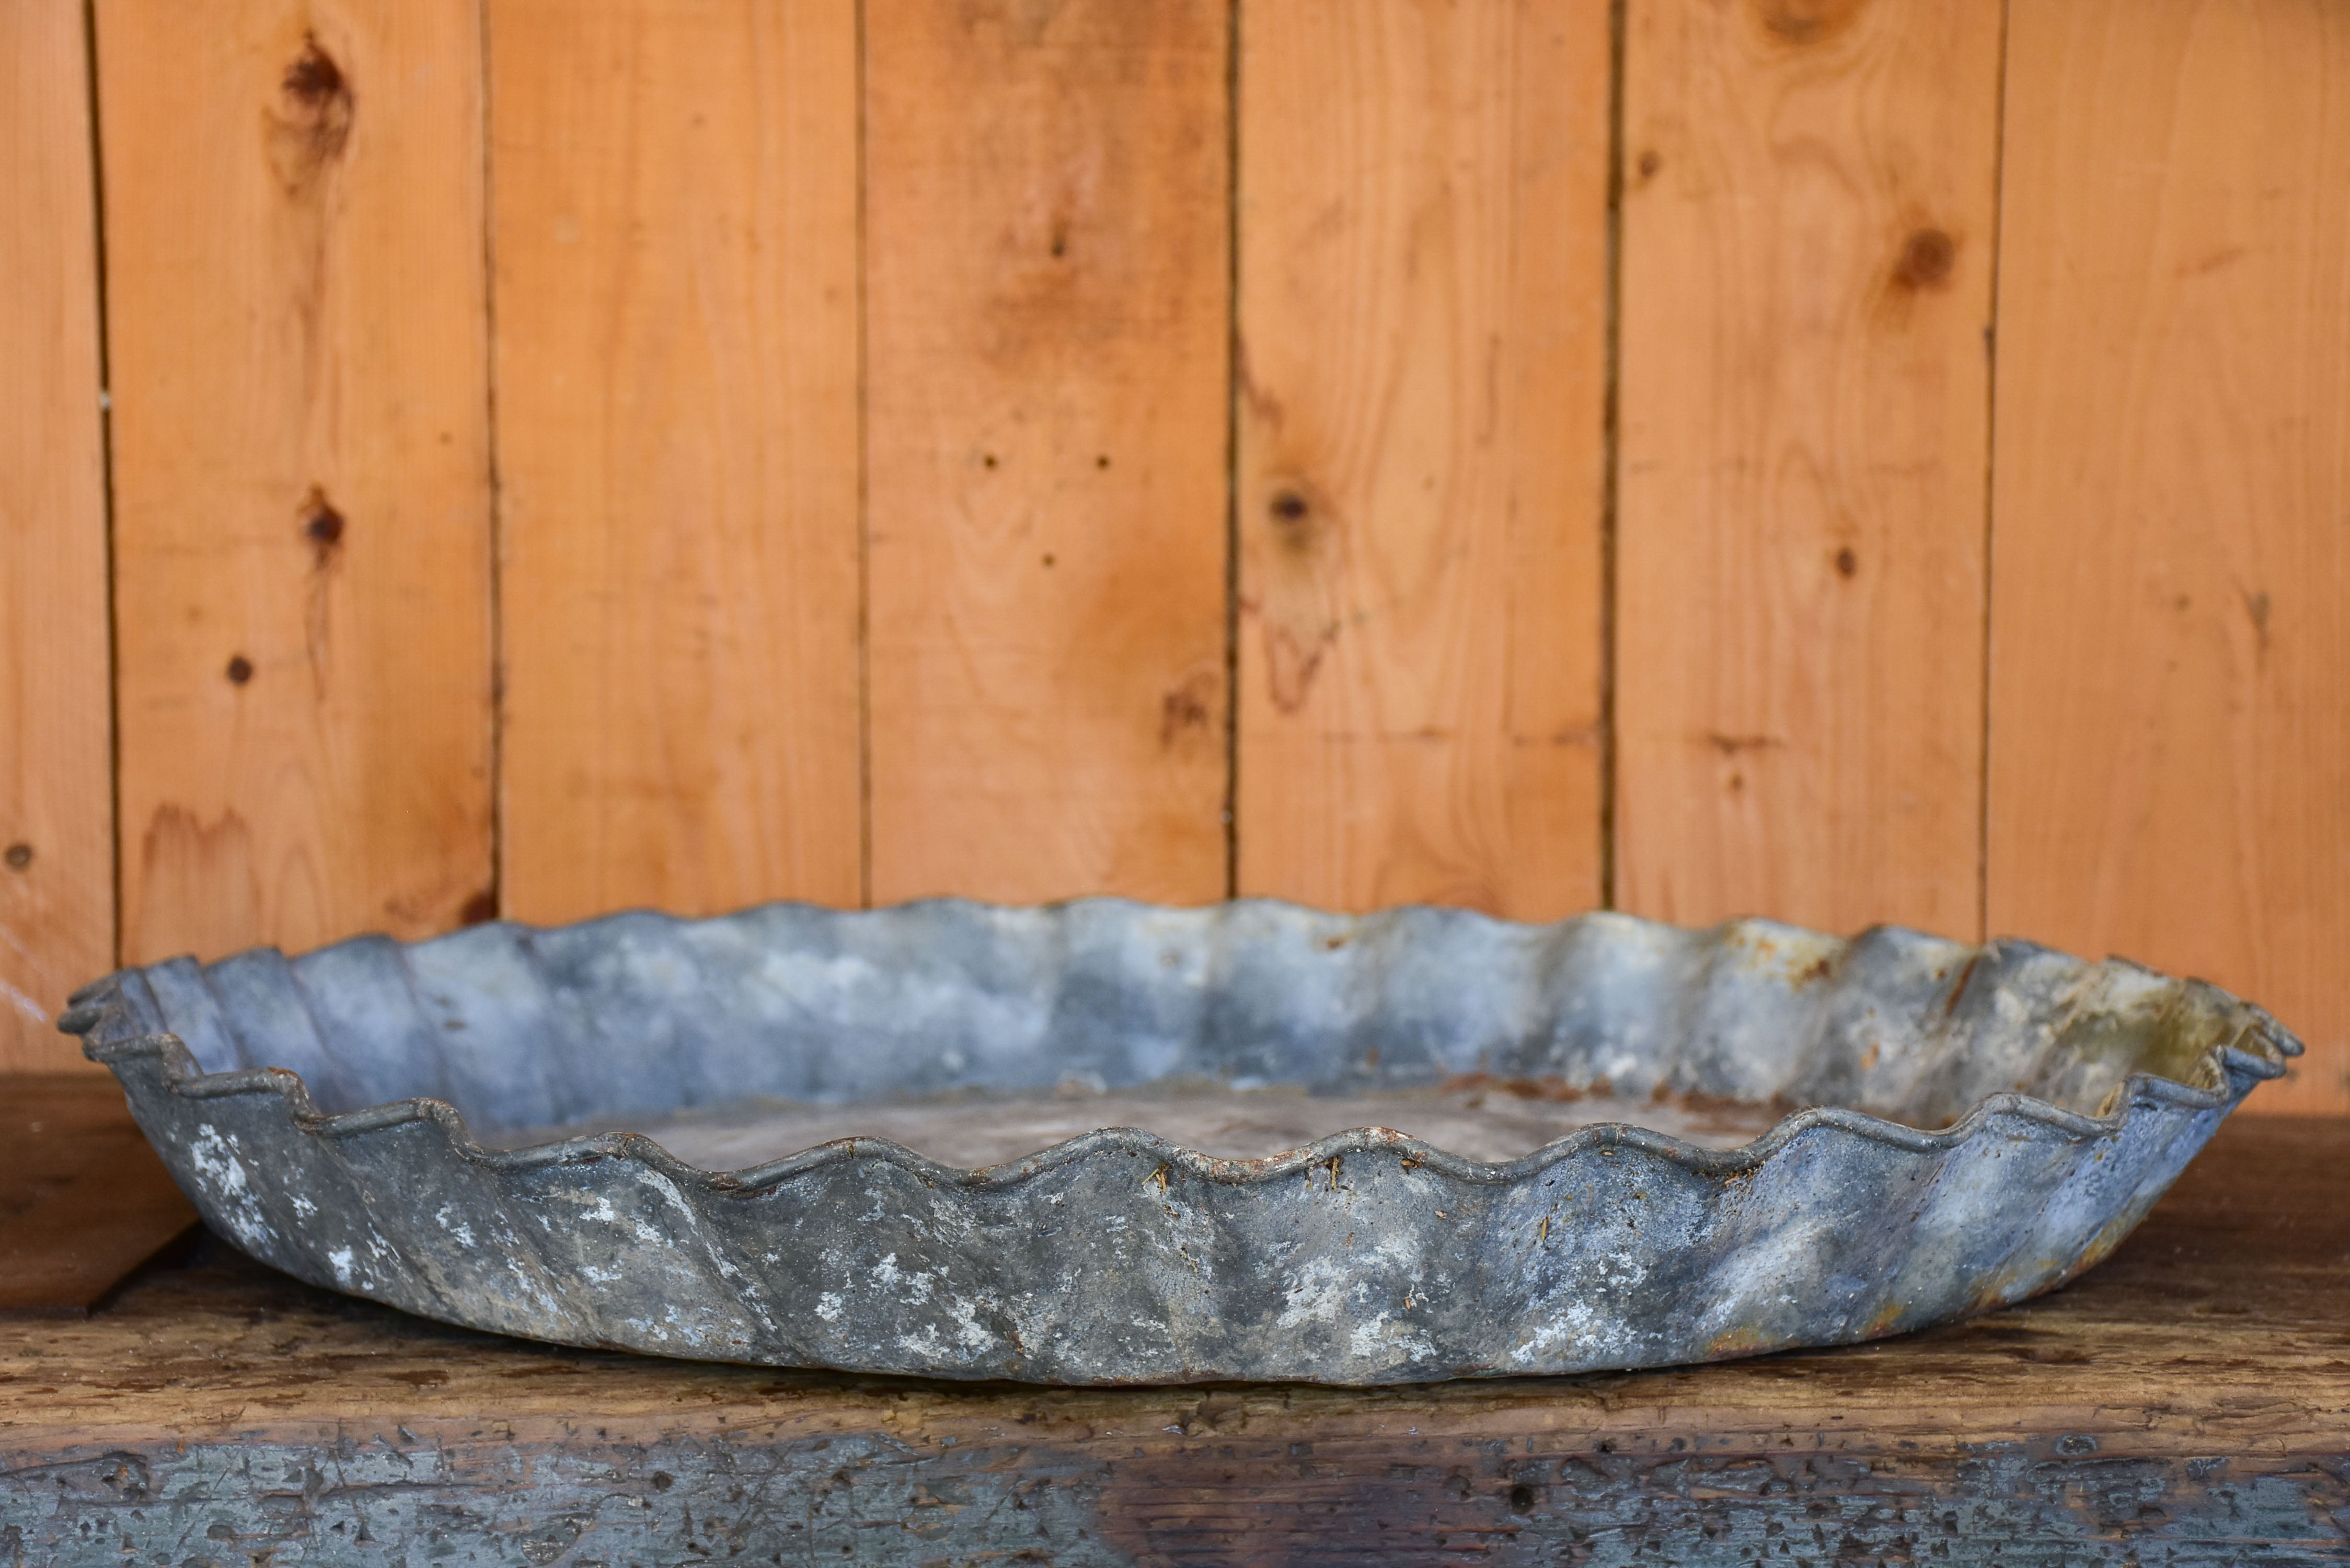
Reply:
[[[82,7],[0,7],[0,1072],[113,969],[99,247]]]

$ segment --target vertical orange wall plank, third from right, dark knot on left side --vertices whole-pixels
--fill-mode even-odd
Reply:
[[[1600,898],[1607,33],[1243,9],[1241,893]]]

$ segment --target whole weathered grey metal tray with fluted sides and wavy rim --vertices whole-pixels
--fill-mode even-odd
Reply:
[[[174,959],[61,1027],[204,1218],[313,1284],[1043,1382],[1920,1328],[2103,1258],[2301,1051],[2012,940],[1107,898]]]

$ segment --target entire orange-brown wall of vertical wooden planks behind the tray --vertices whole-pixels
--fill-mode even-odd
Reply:
[[[2329,0],[87,26],[0,9],[0,1067],[115,957],[1238,891],[2122,950],[2350,1112]]]

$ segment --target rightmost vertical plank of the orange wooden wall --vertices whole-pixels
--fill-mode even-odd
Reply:
[[[2016,0],[1995,931],[2211,978],[2350,1110],[2350,9]]]

